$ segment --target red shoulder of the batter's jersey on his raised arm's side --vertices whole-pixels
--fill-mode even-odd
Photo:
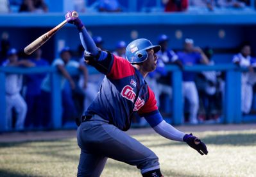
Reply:
[[[113,80],[118,80],[121,78],[125,78],[127,76],[132,76],[135,73],[135,69],[131,65],[128,60],[112,55],[113,57],[113,64],[110,68],[110,72],[108,72],[107,77]]]

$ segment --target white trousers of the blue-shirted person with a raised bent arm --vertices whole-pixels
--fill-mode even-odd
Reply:
[[[189,121],[192,124],[197,124],[199,99],[198,90],[196,89],[196,85],[193,81],[189,82],[189,89],[187,89],[187,99],[189,100]]]

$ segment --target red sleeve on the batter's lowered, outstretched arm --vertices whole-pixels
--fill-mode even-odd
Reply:
[[[151,115],[158,112],[157,107],[157,100],[155,99],[155,94],[151,90],[151,88],[148,87],[148,101],[139,109],[139,115],[145,116],[145,115]]]

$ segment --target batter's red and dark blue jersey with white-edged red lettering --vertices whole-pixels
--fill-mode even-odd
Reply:
[[[108,53],[107,58],[94,63],[105,74],[99,93],[85,115],[98,114],[120,130],[128,130],[135,114],[158,113],[153,91],[130,62]]]

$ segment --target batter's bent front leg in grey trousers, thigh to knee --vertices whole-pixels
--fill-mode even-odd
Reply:
[[[142,174],[145,173],[144,176],[147,173],[160,174],[155,153],[111,124],[103,121],[83,122],[78,131],[78,139],[78,144],[82,142],[87,151],[136,165]]]

